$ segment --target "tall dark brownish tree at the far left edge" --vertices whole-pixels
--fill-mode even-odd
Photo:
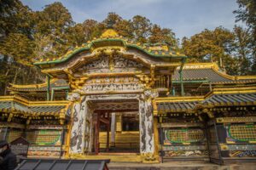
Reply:
[[[19,0],[0,1],[0,94],[7,93],[9,82],[40,81],[39,71],[27,66],[33,58],[32,17],[32,10]]]

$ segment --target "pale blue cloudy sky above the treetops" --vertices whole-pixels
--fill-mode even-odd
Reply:
[[[32,10],[43,10],[55,0],[21,0]],[[139,14],[151,23],[172,29],[176,37],[191,37],[218,26],[232,30],[238,8],[236,0],[59,0],[77,23],[104,20],[109,12],[130,20]]]

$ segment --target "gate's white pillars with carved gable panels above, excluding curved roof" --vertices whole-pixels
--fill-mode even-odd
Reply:
[[[113,59],[113,61],[109,61],[109,59]],[[110,64],[113,65],[113,68]],[[96,139],[93,135],[95,133],[93,132],[93,120],[95,118],[93,113],[96,108],[93,104],[97,101],[112,100],[137,101],[140,122],[140,153],[154,156],[152,99],[156,98],[158,93],[152,88],[147,88],[145,80],[149,82],[150,76],[135,74],[138,68],[143,68],[144,71],[147,71],[148,68],[134,60],[125,59],[119,54],[109,56],[103,54],[100,58],[84,65],[82,68],[83,70],[78,69],[74,75],[81,74],[84,70],[92,75],[86,77],[84,85],[81,85],[80,88],[75,89],[69,95],[69,100],[73,101],[70,156],[90,154],[94,147],[96,149],[94,142]]]

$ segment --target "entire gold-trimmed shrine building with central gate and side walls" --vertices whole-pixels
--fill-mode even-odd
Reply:
[[[256,76],[186,59],[108,29],[33,63],[46,82],[9,85],[0,139],[26,139],[37,158],[255,161]]]

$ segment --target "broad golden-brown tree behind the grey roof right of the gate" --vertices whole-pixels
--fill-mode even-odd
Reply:
[[[218,62],[223,70],[225,66],[228,73],[234,74],[230,65],[231,61],[235,61],[234,59],[231,59],[234,41],[234,33],[223,27],[217,27],[214,31],[206,29],[190,38],[183,38],[182,51],[184,54],[191,57],[189,59],[190,61]],[[229,65],[227,64],[227,61],[229,61]]]

